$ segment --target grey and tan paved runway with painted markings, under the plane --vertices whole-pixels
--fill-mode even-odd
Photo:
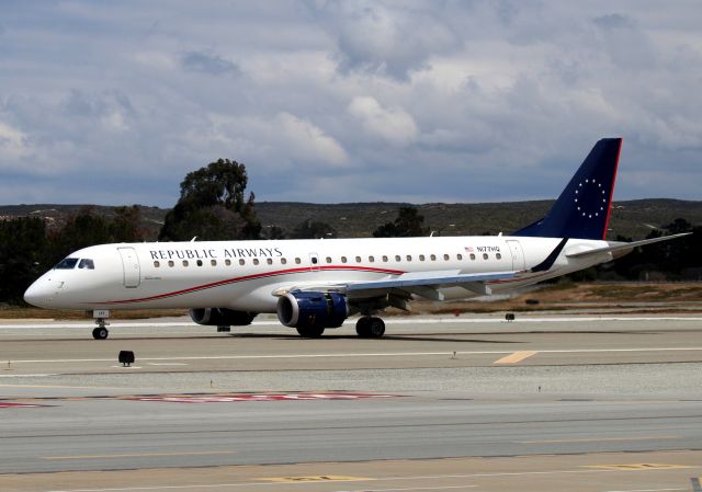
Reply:
[[[702,473],[699,318],[419,321],[384,340],[0,323],[0,490],[653,491]]]

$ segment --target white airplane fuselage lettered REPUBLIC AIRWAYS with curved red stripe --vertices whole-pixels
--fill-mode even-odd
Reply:
[[[79,260],[75,266],[57,265],[48,271],[27,289],[25,299],[56,309],[275,312],[278,296],[293,287],[328,287],[416,272],[521,272],[516,278],[487,283],[498,293],[612,259],[610,253],[566,258],[608,245],[605,241],[570,239],[547,270],[530,272],[561,241],[485,236],[102,244],[71,254],[69,259]],[[461,287],[440,290],[445,299],[476,295]]]

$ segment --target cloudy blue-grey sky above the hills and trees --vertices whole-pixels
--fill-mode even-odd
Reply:
[[[246,165],[258,202],[555,198],[624,138],[615,199],[700,199],[702,5],[13,1],[0,204],[171,207]]]

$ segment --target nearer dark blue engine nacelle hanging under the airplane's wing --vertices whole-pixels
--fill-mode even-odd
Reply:
[[[292,328],[338,328],[349,317],[346,296],[338,293],[288,293],[278,299],[278,319]]]

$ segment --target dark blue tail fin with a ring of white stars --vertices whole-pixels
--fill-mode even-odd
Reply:
[[[621,149],[621,138],[598,141],[548,214],[512,236],[604,239]]]

